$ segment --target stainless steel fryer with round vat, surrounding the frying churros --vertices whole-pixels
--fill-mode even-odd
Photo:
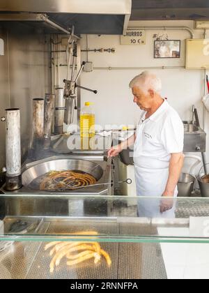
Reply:
[[[45,194],[53,193],[51,190],[40,190],[38,182],[37,184],[31,184],[36,179],[40,178],[42,175],[47,174],[51,171],[69,171],[77,170],[84,172],[86,174],[91,174],[97,180],[97,186],[85,186],[85,188],[79,188],[77,190],[62,190],[55,191],[56,193],[63,194],[91,194],[91,195],[111,195],[113,186],[102,185],[102,183],[111,182],[112,170],[111,170],[111,159],[104,160],[104,156],[54,156],[44,160],[38,160],[26,164],[22,167],[22,188],[16,190],[17,194]],[[3,193],[6,193],[6,190],[1,189]]]

